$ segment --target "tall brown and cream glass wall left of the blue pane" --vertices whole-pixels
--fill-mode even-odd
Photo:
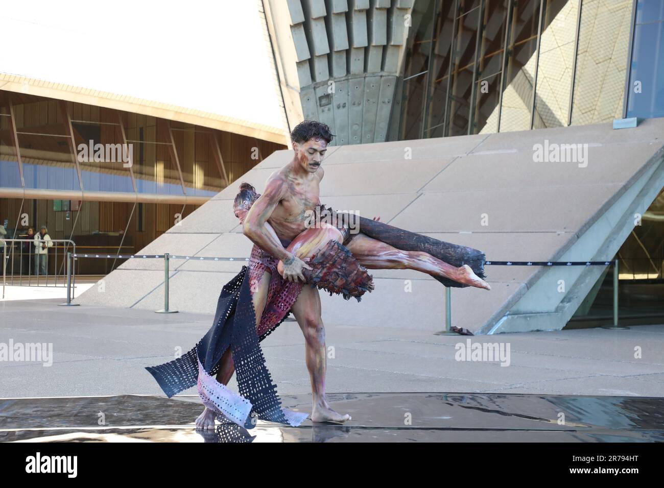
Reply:
[[[645,4],[659,15],[654,4]],[[632,5],[623,0],[416,1],[402,100],[394,104],[390,120],[398,130],[390,133],[394,139],[422,139],[622,118]],[[645,11],[642,17],[653,18]],[[655,50],[658,44],[647,45]],[[653,60],[652,53],[646,57]],[[650,62],[648,68],[662,66]],[[650,103],[661,104],[664,97],[657,100]]]

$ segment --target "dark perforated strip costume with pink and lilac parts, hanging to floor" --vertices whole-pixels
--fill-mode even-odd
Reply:
[[[203,404],[220,420],[228,418],[248,429],[255,424],[251,412],[262,420],[293,426],[307,418],[307,414],[281,407],[259,345],[284,321],[302,287],[301,283],[284,280],[276,271],[277,264],[276,258],[254,245],[249,267],[242,266],[242,271],[222,288],[212,328],[205,337],[182,357],[146,368],[167,396],[198,384]],[[257,334],[251,290],[255,289],[252,284],[266,270],[272,278]],[[232,348],[240,394],[232,392],[214,378],[228,347]]]

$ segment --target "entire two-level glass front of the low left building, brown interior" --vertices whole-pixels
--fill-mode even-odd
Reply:
[[[286,147],[0,90],[0,225],[7,222],[7,238],[25,238],[43,224],[52,239],[73,240],[80,252],[138,252],[278,149]],[[13,276],[33,272],[22,250],[14,248]],[[49,276],[63,279],[66,250],[49,250]],[[78,274],[108,274],[121,263],[84,260]]]

